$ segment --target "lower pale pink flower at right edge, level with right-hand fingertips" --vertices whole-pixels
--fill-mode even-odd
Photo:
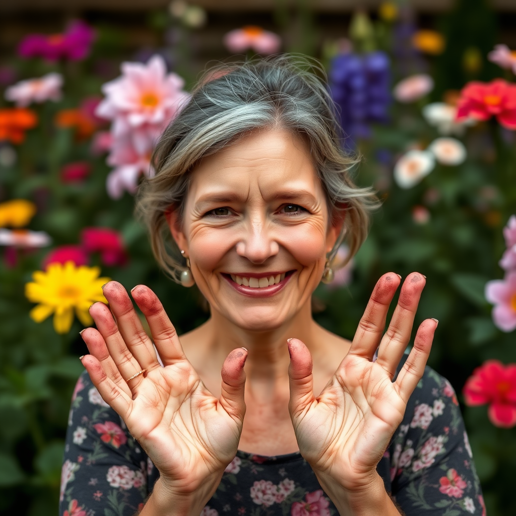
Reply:
[[[516,270],[508,272],[503,280],[486,283],[486,299],[494,304],[494,324],[505,332],[516,329]]]

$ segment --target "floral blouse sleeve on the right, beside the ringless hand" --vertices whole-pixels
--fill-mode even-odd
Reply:
[[[406,516],[485,516],[457,396],[430,367],[388,451],[392,495]]]

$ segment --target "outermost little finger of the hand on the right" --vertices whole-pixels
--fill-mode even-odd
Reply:
[[[437,319],[425,319],[421,323],[414,339],[414,347],[394,382],[401,399],[405,403],[409,400],[425,372],[426,362],[432,348],[433,334],[438,323]]]

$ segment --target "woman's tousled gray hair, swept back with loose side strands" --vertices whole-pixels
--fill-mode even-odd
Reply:
[[[148,227],[153,253],[175,281],[186,267],[165,214],[177,210],[182,220],[189,172],[204,156],[251,131],[273,127],[308,143],[330,215],[345,212],[343,230],[328,260],[333,260],[344,239],[348,260],[362,245],[369,211],[378,200],[372,189],[358,188],[350,177],[359,158],[342,148],[343,134],[322,66],[315,59],[292,55],[219,64],[204,73],[189,102],[161,136],[152,156],[156,173],[143,181],[138,192],[136,210]]]

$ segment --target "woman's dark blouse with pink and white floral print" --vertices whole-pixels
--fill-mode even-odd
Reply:
[[[485,516],[470,444],[450,383],[427,367],[378,463],[406,516]],[[72,396],[59,516],[131,516],[159,472],[84,372]],[[299,453],[238,451],[201,516],[330,516],[338,512]]]

